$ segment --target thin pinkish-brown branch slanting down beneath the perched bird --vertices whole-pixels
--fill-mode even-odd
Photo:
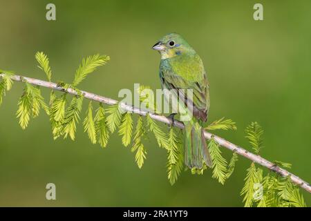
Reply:
[[[0,74],[0,77],[3,76],[3,74]],[[59,90],[64,93],[69,93],[71,95],[78,95],[77,92],[73,88],[64,88],[62,86],[57,86],[57,84],[49,81],[42,81],[40,79],[34,79],[30,77],[23,77],[20,75],[12,75],[11,79],[14,81],[22,81],[22,82],[28,82],[29,84],[37,85],[37,86],[43,86],[45,88],[50,88],[53,90]],[[108,104],[108,105],[114,105],[117,104],[118,102],[115,99],[111,99],[108,97],[103,97],[100,95],[95,95],[93,93],[88,93],[84,90],[81,90],[82,95],[90,100],[93,100],[95,102],[101,102],[103,104]],[[149,116],[152,119],[155,119],[158,122],[162,122],[165,124],[172,124],[171,119],[162,116],[162,115],[157,115],[154,113],[149,113],[148,111],[140,110],[140,108],[136,108],[134,106],[130,106],[124,103],[120,103],[120,107],[124,109],[124,111],[128,111],[131,113],[136,113],[138,115],[146,116],[149,114]],[[184,128],[184,124],[182,122],[179,122],[178,120],[174,120],[173,126],[176,126],[178,128]],[[212,137],[214,137],[214,140],[220,145],[223,146],[231,151],[234,151],[238,153],[239,155],[252,160],[252,162],[256,162],[257,164],[260,164],[261,166],[265,166],[267,169],[270,169],[271,171],[274,171],[275,173],[279,173],[279,175],[286,177],[290,175],[290,179],[292,182],[298,186],[300,186],[302,189],[305,189],[305,191],[308,191],[311,193],[311,186],[308,184],[308,182],[305,182],[302,180],[300,177],[286,171],[285,169],[282,169],[281,167],[277,166],[276,164],[270,162],[269,160],[265,160],[265,158],[261,157],[260,155],[255,155],[254,153],[251,153],[244,148],[241,148],[240,146],[237,146],[236,144],[232,144],[231,142],[228,142],[227,140],[223,139],[222,137],[218,137],[216,135],[213,135],[207,131],[204,132],[205,138],[207,140],[210,140]]]

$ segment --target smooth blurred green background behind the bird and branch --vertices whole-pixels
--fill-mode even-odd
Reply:
[[[50,2],[57,21],[46,21]],[[263,3],[264,21],[254,21],[254,3]],[[79,88],[117,99],[134,83],[160,88],[160,55],[151,46],[179,32],[207,69],[209,119],[237,122],[238,131],[217,134],[249,148],[244,128],[258,121],[265,129],[263,157],[291,162],[290,171],[310,182],[310,10],[309,0],[0,0],[0,68],[45,79],[34,58],[39,50],[50,57],[53,80],[70,82],[82,57],[99,52],[111,61]],[[239,158],[225,186],[211,171],[184,172],[171,186],[166,153],[153,138],[138,169],[116,134],[102,149],[79,124],[75,142],[53,141],[43,112],[22,131],[15,119],[22,88],[16,83],[0,107],[0,206],[243,206],[239,192],[249,160]],[[48,182],[56,184],[55,201],[45,198]]]

